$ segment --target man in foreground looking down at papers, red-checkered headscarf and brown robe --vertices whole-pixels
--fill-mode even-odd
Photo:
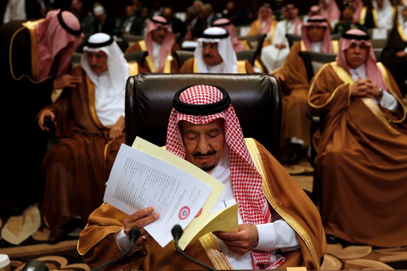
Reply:
[[[318,211],[262,145],[244,139],[226,90],[184,88],[175,94],[173,105],[166,150],[225,184],[212,212],[239,202],[238,232],[210,232],[190,243],[185,253],[216,269],[319,269],[326,244]],[[127,215],[105,203],[80,233],[78,252],[92,268],[103,264],[122,255],[130,245],[129,230],[138,226],[142,236],[136,247],[109,268],[201,268],[185,260],[173,244],[160,247],[146,232],[143,226],[159,216],[154,206]]]

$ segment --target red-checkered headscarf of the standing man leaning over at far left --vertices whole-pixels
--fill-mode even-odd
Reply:
[[[40,58],[40,79],[49,75],[55,57],[62,50],[64,51],[61,53],[59,65],[56,66],[55,77],[66,74],[72,54],[82,42],[83,34],[74,36],[62,27],[57,18],[60,12],[60,9],[48,11],[46,17],[35,27]],[[80,30],[79,20],[72,12],[63,11],[62,19],[69,28]]]

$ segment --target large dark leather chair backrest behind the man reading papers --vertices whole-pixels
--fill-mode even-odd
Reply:
[[[153,74],[130,76],[126,83],[126,144],[136,136],[164,146],[174,94],[190,85],[226,89],[246,138],[254,138],[280,157],[281,90],[267,74]]]

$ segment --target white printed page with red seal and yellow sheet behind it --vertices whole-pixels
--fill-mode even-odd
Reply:
[[[142,139],[137,138],[133,147],[122,144],[103,200],[129,215],[153,206],[160,218],[144,229],[164,247],[173,239],[174,225],[185,229],[198,213],[207,217],[223,189],[222,183],[203,171],[201,179],[195,177],[200,173],[189,173],[181,166],[183,163],[192,171],[201,171]]]

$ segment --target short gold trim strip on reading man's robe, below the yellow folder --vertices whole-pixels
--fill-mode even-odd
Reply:
[[[232,270],[233,267],[227,261],[225,255],[220,250],[218,242],[216,242],[212,232],[209,232],[199,238],[205,252],[208,254],[209,259],[217,270]]]

